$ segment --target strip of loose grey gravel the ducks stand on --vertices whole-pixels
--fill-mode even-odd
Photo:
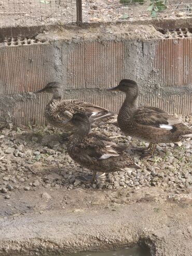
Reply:
[[[183,118],[189,125],[192,117]],[[114,124],[102,124],[101,131],[119,144],[128,144],[130,149],[147,146],[126,137]],[[128,187],[158,186],[164,191],[189,192],[192,183],[192,140],[159,144],[156,155],[140,159],[130,150],[132,157],[142,169],[130,172],[108,173],[94,184],[84,184],[78,176],[90,173],[76,165],[66,153],[66,144],[53,128],[24,127],[3,128],[0,133],[0,195],[9,199],[15,191],[36,191],[40,187],[71,190],[75,187],[93,187],[109,190]],[[45,195],[47,196],[47,195]]]

